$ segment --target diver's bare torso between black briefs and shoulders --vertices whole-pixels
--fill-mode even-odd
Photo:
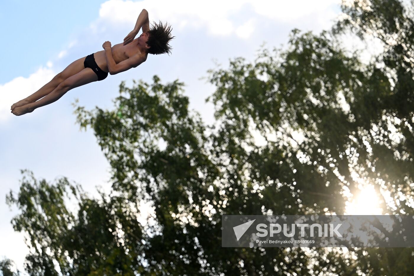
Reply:
[[[138,38],[134,39],[127,45],[119,43],[111,47],[112,56],[115,63],[118,64],[121,61],[125,61],[126,59],[130,58],[130,56],[134,56],[136,53],[141,53],[138,48],[137,39]],[[142,56],[144,57],[144,60],[147,60],[148,54],[142,53]],[[108,73],[109,70],[108,64],[106,63],[105,50],[94,53],[94,58],[99,68]]]

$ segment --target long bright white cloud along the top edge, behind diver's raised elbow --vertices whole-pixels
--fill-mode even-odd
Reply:
[[[271,19],[275,22],[292,22],[292,20],[298,20],[306,15],[314,15],[320,23],[320,20],[323,19],[327,21],[325,13],[330,9],[330,6],[338,5],[338,3],[339,0],[320,0],[317,4],[306,0],[283,2],[268,0],[213,0],[208,2],[109,0],[101,5],[99,19],[91,24],[91,28],[96,32],[98,26],[101,27],[104,22],[122,25],[126,23],[133,28],[138,15],[144,8],[149,12],[150,21],[158,22],[161,19],[179,30],[207,28],[207,33],[210,35],[230,36],[236,34],[239,38],[248,39],[254,31],[252,17]],[[241,22],[232,19],[234,15],[240,14],[244,7],[246,9],[253,7],[254,12],[249,15],[250,19],[238,20]],[[236,28],[235,25],[240,27]],[[243,33],[243,29],[246,33]]]

